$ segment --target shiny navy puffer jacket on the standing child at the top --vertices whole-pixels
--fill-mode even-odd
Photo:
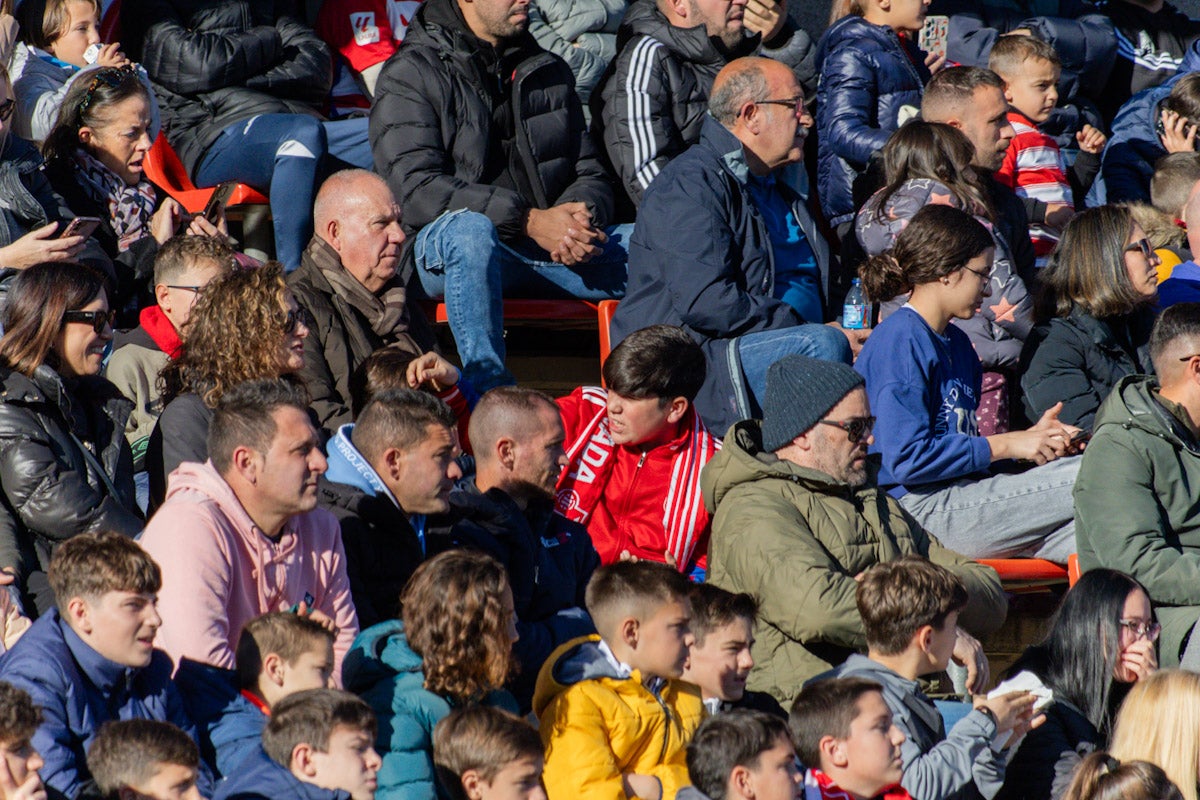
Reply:
[[[920,110],[925,54],[886,25],[842,17],[817,43],[817,198],[829,224],[854,216],[854,178]]]

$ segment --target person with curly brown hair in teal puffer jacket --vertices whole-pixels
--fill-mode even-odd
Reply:
[[[342,682],[379,718],[383,753],[376,798],[433,798],[432,735],[451,709],[496,705],[517,712],[502,687],[515,668],[512,590],[499,561],[449,551],[413,573],[400,619],[359,633]]]

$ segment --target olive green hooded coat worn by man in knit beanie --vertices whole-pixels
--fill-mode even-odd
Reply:
[[[713,512],[709,581],[760,597],[749,687],[786,705],[804,681],[866,645],[854,604],[863,570],[918,554],[967,587],[960,624],[984,636],[1004,620],[996,572],[942,547],[876,482],[852,488],[762,450],[762,423],[738,422],[701,476]],[[919,796],[919,795],[914,795]]]

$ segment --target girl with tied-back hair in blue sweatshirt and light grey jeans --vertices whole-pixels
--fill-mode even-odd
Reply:
[[[950,325],[989,293],[991,234],[947,205],[913,215],[889,253],[860,269],[871,300],[911,293],[880,323],[854,368],[878,417],[880,487],[942,545],[967,558],[1037,555],[1058,564],[1075,552],[1070,491],[1078,432],[1049,409],[1028,431],[979,435],[983,368],[971,339]],[[1039,464],[994,473],[1000,461]]]

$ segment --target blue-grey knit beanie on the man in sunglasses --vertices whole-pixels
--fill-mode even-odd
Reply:
[[[863,377],[836,361],[785,355],[767,369],[762,449],[774,452],[817,423]]]

